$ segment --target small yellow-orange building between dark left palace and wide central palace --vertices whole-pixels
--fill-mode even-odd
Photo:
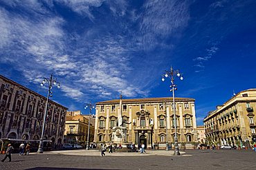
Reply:
[[[91,116],[89,142],[93,142],[94,139],[94,125],[95,118]],[[89,116],[82,114],[77,114],[76,116],[66,116],[64,142],[86,145],[88,128]]]

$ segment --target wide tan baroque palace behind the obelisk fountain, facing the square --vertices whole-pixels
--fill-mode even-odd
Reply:
[[[186,147],[192,147],[197,141],[194,99],[175,98],[175,101],[179,145],[184,143]],[[113,142],[113,127],[118,125],[118,112],[122,109],[122,127],[127,128],[125,142],[136,146],[144,143],[146,148],[154,145],[165,148],[166,142],[172,145],[174,110],[171,106],[172,98],[120,98],[98,102],[94,142]]]

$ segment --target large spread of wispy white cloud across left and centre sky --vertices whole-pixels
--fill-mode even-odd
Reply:
[[[63,96],[80,102],[89,98],[113,98],[121,92],[126,97],[149,95],[153,81],[150,76],[158,74],[161,67],[157,65],[161,62],[153,55],[145,59],[141,50],[152,50],[158,45],[172,49],[174,45],[165,41],[185,28],[189,19],[188,2],[179,1],[147,1],[142,7],[143,14],[128,10],[131,7],[124,0],[3,3],[12,11],[21,9],[23,12],[1,8],[0,53],[4,60],[0,62],[17,66],[16,70],[36,84],[43,76],[53,73],[62,83]],[[57,5],[80,15],[86,27],[68,30],[70,23],[62,14],[56,14]],[[99,22],[95,13],[101,6],[119,23]],[[87,23],[86,17],[92,22]],[[127,19],[122,21],[123,17]],[[106,27],[113,27],[113,30],[105,31]],[[116,28],[118,31],[113,33]],[[163,41],[158,40],[159,37]],[[156,66],[150,68],[150,75],[146,70],[148,65]]]

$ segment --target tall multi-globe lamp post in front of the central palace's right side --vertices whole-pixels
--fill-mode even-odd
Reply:
[[[176,90],[176,85],[174,84],[174,78],[178,76],[181,78],[181,81],[183,80],[183,76],[179,73],[179,70],[173,70],[171,67],[170,71],[165,71],[165,74],[163,75],[162,81],[165,81],[165,78],[171,79],[171,92],[172,92],[172,100],[173,100],[173,110],[174,110],[174,129],[175,129],[175,136],[174,136],[174,156],[179,156],[181,153],[179,152],[179,145],[178,145],[178,137],[177,137],[177,123],[176,123],[176,107],[175,107],[175,98],[174,98],[174,90]]]

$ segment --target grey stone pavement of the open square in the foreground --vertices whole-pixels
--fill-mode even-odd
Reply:
[[[99,151],[80,149],[13,154],[12,162],[0,162],[0,169],[256,169],[256,153],[252,150],[186,150],[183,156],[170,156],[172,153],[107,153],[101,157]]]

